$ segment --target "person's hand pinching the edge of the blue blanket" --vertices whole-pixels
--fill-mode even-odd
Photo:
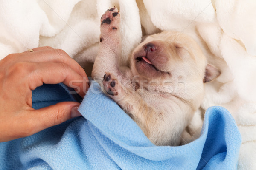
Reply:
[[[80,65],[60,49],[39,47],[34,52],[10,54],[0,61],[0,142],[25,137],[81,116],[80,103],[61,102],[32,108],[32,90],[63,82],[84,97],[87,75]]]

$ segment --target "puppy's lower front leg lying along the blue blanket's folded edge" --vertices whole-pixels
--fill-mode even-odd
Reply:
[[[137,92],[126,88],[111,73],[106,73],[103,78],[103,87],[106,93],[140,126],[148,139],[156,145],[163,141],[163,136],[168,136],[158,132],[158,127],[163,119],[161,111],[148,105]],[[162,123],[162,126],[164,123]],[[166,133],[166,131],[164,132]],[[168,137],[165,137],[166,139]],[[167,144],[166,144],[167,145]]]

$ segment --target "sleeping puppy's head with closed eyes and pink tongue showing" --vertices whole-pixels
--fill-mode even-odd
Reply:
[[[134,49],[130,66],[134,76],[138,77],[138,83],[143,82],[147,88],[161,85],[158,90],[163,92],[173,92],[174,87],[184,83],[187,92],[193,94],[193,88],[202,91],[203,82],[209,82],[220,74],[207,65],[199,45],[177,31],[148,36]]]

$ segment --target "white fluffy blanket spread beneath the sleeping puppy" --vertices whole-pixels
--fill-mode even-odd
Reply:
[[[206,84],[201,110],[221,105],[230,111],[242,135],[238,168],[255,170],[255,0],[2,0],[0,59],[48,45],[85,66],[96,57],[100,17],[113,6],[121,13],[123,63],[143,35],[161,30],[182,31],[201,45],[208,62],[221,70]],[[192,129],[199,119],[200,113]]]

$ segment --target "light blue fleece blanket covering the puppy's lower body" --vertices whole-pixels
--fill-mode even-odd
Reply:
[[[69,90],[62,84],[43,85],[33,91],[33,107],[81,100]],[[209,108],[201,137],[178,147],[152,144],[95,82],[79,111],[83,117],[0,143],[0,170],[236,169],[241,136],[224,108]]]

